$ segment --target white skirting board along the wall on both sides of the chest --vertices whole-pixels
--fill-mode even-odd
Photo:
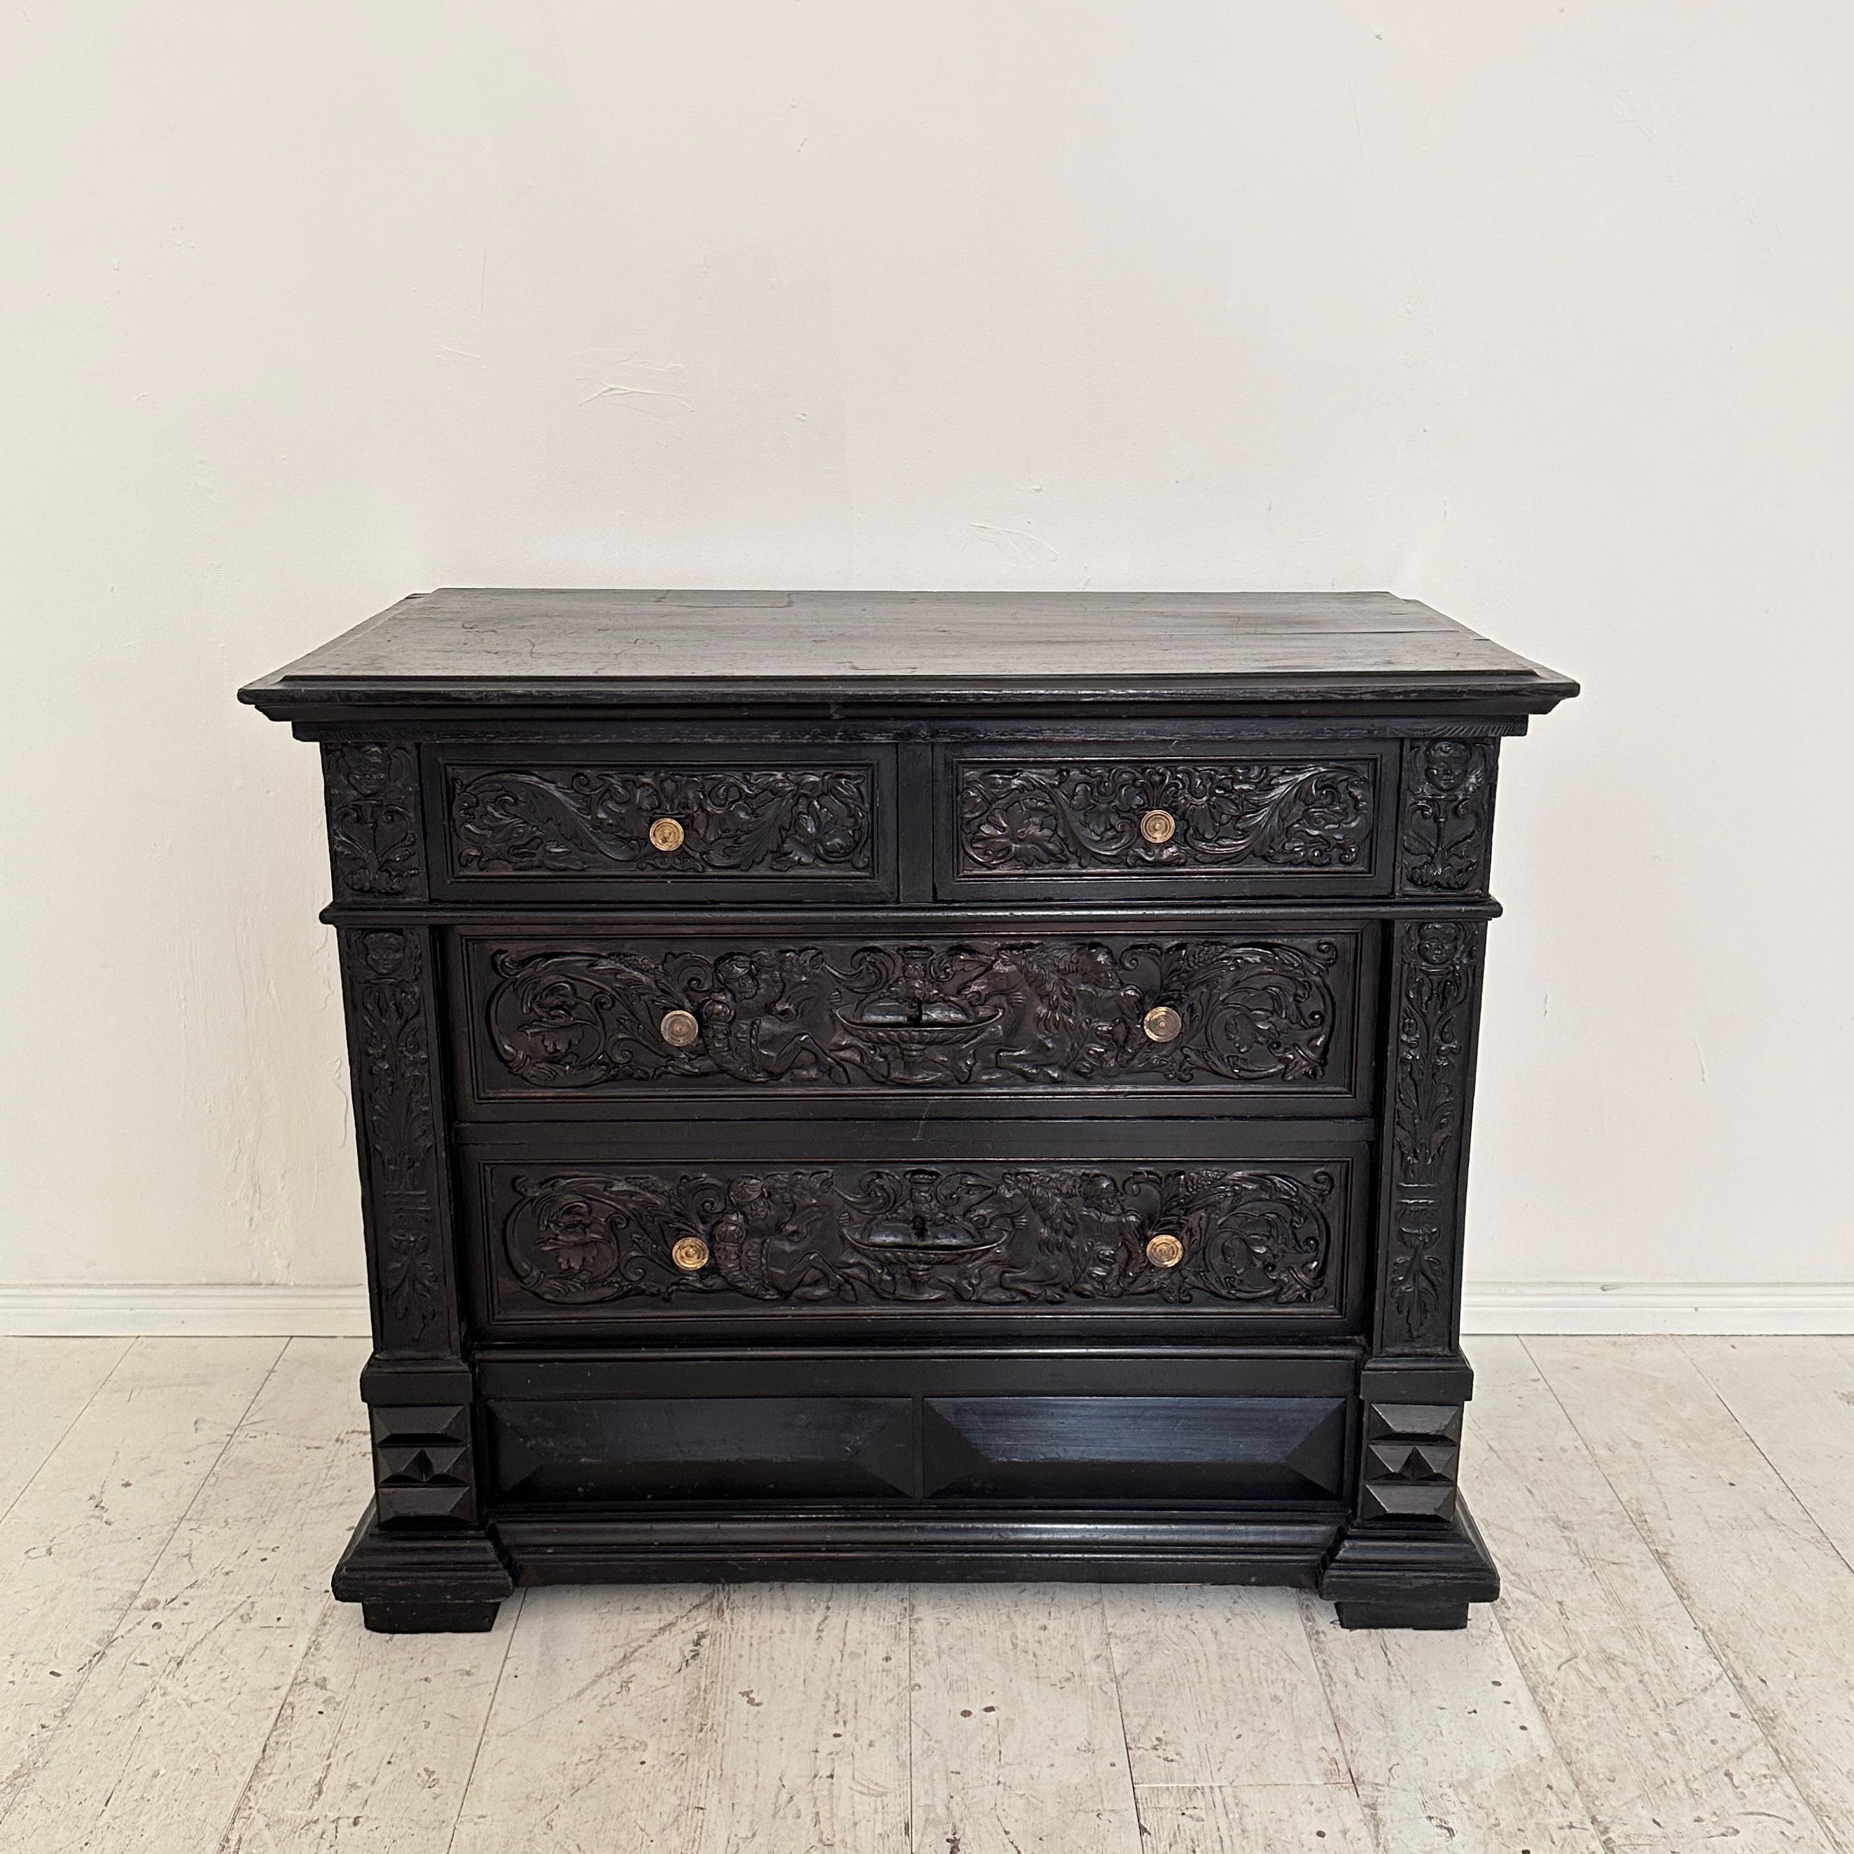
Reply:
[[[1854,1281],[1491,1281],[1465,1333],[1854,1333]],[[0,1333],[367,1335],[358,1287],[0,1287]]]

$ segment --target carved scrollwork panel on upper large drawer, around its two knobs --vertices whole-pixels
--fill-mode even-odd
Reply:
[[[491,1042],[540,1088],[1305,1086],[1327,1075],[1352,979],[1339,944],[1316,934],[742,951],[629,942],[502,951],[491,966]],[[1174,1042],[1142,1033],[1157,1003],[1183,1018]],[[695,1018],[692,1046],[664,1040],[669,1012]]]

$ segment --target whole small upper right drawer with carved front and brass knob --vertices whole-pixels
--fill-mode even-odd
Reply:
[[[947,899],[1376,895],[1396,779],[1381,745],[949,747]]]

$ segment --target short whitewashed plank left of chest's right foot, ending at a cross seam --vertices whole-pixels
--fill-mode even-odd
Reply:
[[[1133,1782],[1346,1784],[1292,1591],[1103,1591]]]

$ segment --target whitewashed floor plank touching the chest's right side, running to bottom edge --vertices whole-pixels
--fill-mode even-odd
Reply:
[[[1474,1366],[1496,1617],[1609,1848],[1835,1854],[1526,1348]]]

